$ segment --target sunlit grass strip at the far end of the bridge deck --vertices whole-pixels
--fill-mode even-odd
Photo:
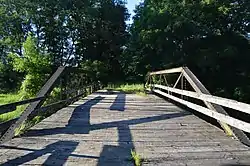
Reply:
[[[143,84],[117,84],[108,85],[106,89],[112,89],[116,91],[123,91],[125,93],[135,93],[138,95],[146,95]]]

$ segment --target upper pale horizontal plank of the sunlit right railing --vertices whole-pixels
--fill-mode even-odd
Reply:
[[[211,102],[214,104],[218,104],[218,105],[221,105],[224,107],[232,108],[232,109],[250,114],[250,105],[242,103],[242,102],[238,102],[236,100],[226,99],[226,98],[202,94],[202,93],[191,92],[191,91],[187,91],[187,90],[171,88],[171,87],[157,85],[157,84],[154,85],[154,87],[164,89],[167,91],[171,91],[171,92],[174,92],[177,94],[185,95],[188,97],[200,99],[203,101]]]

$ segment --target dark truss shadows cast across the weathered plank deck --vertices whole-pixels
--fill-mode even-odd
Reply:
[[[82,157],[82,158],[92,158],[98,159],[98,166],[104,165],[133,165],[130,159],[131,150],[134,149],[133,138],[130,131],[130,125],[161,121],[166,119],[178,118],[182,116],[190,115],[188,112],[164,114],[153,117],[144,117],[131,120],[121,120],[113,122],[105,122],[100,124],[90,124],[90,110],[91,107],[96,105],[98,102],[102,101],[104,97],[98,96],[94,99],[88,100],[83,105],[76,107],[70,117],[68,124],[65,127],[49,128],[49,129],[39,129],[30,130],[23,137],[39,137],[45,135],[54,134],[88,134],[93,130],[107,129],[117,127],[118,129],[118,145],[104,145],[100,156],[87,156],[87,155],[74,155],[72,154],[77,148],[79,142],[75,141],[58,141],[56,143],[50,144],[41,150],[16,148],[10,146],[0,146],[0,148],[5,149],[16,149],[16,150],[27,150],[31,153],[24,156],[18,157],[16,159],[9,160],[3,165],[15,165],[24,164],[38,157],[50,154],[43,165],[63,165],[69,158]],[[115,101],[110,106],[110,111],[114,114],[116,111],[125,111],[126,104],[126,94],[118,93]],[[123,159],[121,159],[121,156]],[[127,160],[124,160],[126,158]]]

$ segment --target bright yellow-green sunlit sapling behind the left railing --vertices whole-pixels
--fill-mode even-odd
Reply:
[[[50,72],[49,55],[41,54],[35,43],[35,38],[29,35],[23,44],[23,56],[13,53],[9,55],[13,68],[26,74],[20,88],[23,98],[33,97],[46,81],[46,74]]]

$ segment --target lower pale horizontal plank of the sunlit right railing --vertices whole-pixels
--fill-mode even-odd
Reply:
[[[232,118],[230,116],[227,116],[227,115],[224,115],[224,114],[221,114],[221,113],[218,113],[216,111],[213,111],[211,109],[199,106],[197,104],[193,104],[193,103],[185,101],[183,99],[179,99],[178,97],[169,95],[169,94],[167,94],[165,92],[162,92],[160,90],[153,90],[153,91],[155,93],[158,93],[160,95],[168,97],[168,98],[170,98],[170,99],[172,99],[172,100],[174,100],[176,102],[179,102],[179,103],[187,106],[188,108],[191,108],[191,109],[194,109],[194,110],[196,110],[196,111],[198,111],[200,113],[203,113],[204,115],[207,115],[207,116],[209,116],[211,118],[222,121],[222,122],[224,122],[226,124],[229,124],[231,126],[234,126],[234,127],[238,128],[238,129],[241,129],[241,130],[243,130],[245,132],[250,133],[250,124],[249,123],[246,123],[244,121]]]

